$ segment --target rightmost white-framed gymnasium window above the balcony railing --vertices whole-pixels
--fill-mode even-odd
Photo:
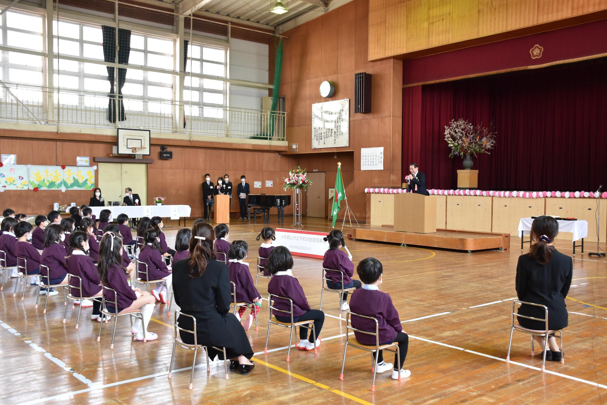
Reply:
[[[186,74],[192,72],[194,74],[226,77],[226,52],[225,48],[189,44]],[[223,109],[221,107],[226,105],[226,90],[227,84],[225,81],[186,76],[183,99],[186,102],[192,102],[191,111],[189,107],[185,109],[186,115],[202,115],[206,118],[222,119]],[[194,104],[199,103],[205,106],[194,108]]]

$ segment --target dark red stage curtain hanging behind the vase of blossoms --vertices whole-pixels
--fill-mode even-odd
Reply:
[[[497,145],[472,156],[481,190],[595,190],[607,185],[607,58],[403,89],[402,173],[455,189],[444,126],[493,122]]]

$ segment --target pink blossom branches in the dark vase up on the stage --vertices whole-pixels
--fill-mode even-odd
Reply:
[[[451,120],[445,126],[445,140],[451,148],[449,157],[466,157],[467,154],[489,153],[495,146],[495,131],[490,125],[486,128],[476,125],[476,128],[468,120],[460,118]]]

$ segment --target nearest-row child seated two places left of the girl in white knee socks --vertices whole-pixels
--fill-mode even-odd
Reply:
[[[50,224],[44,230],[44,250],[40,256],[40,264],[49,268],[49,274],[46,274],[46,268],[41,269],[40,275],[42,282],[48,285],[67,284],[67,266],[66,266],[66,247],[63,245],[66,235],[63,234],[63,228],[59,224]],[[50,296],[59,294],[55,289],[50,289]],[[46,289],[40,290],[40,294],[47,294]]]

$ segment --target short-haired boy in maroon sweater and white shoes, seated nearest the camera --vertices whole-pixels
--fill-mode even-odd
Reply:
[[[362,288],[352,292],[350,299],[350,311],[355,314],[372,316],[378,320],[379,344],[398,343],[400,357],[394,355],[394,368],[392,363],[384,361],[382,350],[379,351],[376,361],[376,372],[383,373],[392,370],[392,378],[407,378],[411,375],[409,370],[403,370],[402,365],[407,358],[407,348],[409,348],[409,335],[402,330],[401,320],[398,317],[398,311],[392,303],[390,294],[379,291],[379,285],[382,283],[382,268],[379,260],[373,257],[367,257],[361,260],[356,266],[358,277],[363,282]],[[352,316],[352,326],[359,330],[375,333],[375,321],[359,316]],[[356,340],[364,345],[375,345],[376,338],[370,334],[354,332]],[[373,353],[373,358],[375,358]]]

